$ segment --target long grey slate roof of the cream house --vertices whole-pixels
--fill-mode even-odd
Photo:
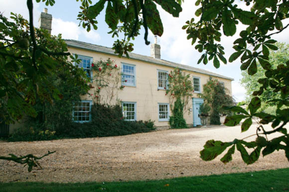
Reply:
[[[86,49],[86,50],[95,51],[95,52],[99,52],[99,53],[105,53],[105,54],[109,54],[109,55],[117,55],[117,54],[115,54],[115,51],[109,47],[90,44],[90,43],[86,43],[86,42],[82,42],[82,41],[76,41],[76,40],[72,40],[72,39],[65,39],[65,42],[67,43],[68,47]],[[168,67],[173,67],[173,68],[177,67],[179,69],[184,69],[187,71],[192,71],[192,72],[196,72],[196,73],[201,73],[201,74],[205,74],[205,75],[209,75],[209,76],[220,77],[223,79],[228,79],[228,80],[234,81],[233,78],[225,77],[225,76],[213,73],[213,72],[209,72],[209,71],[195,68],[195,67],[190,67],[187,65],[182,65],[179,63],[174,63],[174,62],[170,62],[170,61],[166,61],[166,60],[162,60],[162,59],[154,59],[153,57],[148,57],[148,56],[135,54],[135,53],[129,53],[129,56],[131,59],[136,59],[136,60],[144,61],[147,63],[153,63],[153,64],[163,65],[163,66],[168,66]],[[126,57],[126,56],[123,56],[123,57]]]

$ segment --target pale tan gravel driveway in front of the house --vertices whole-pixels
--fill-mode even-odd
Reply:
[[[199,151],[209,139],[232,141],[255,131],[252,127],[241,134],[240,126],[219,126],[169,129],[118,137],[0,142],[0,156],[7,156],[8,153],[41,156],[48,150],[56,150],[56,153],[40,160],[43,170],[33,169],[31,173],[22,165],[0,160],[0,182],[155,180],[289,167],[284,151],[264,158],[261,156],[257,163],[249,166],[243,163],[237,150],[233,161],[226,165],[220,162],[222,156],[210,162],[202,161],[199,157]],[[247,139],[250,140],[255,140],[255,137]]]

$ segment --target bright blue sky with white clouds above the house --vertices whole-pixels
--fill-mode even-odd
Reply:
[[[101,14],[97,17],[98,29],[91,30],[87,32],[86,29],[78,26],[79,21],[77,20],[77,14],[80,11],[80,0],[55,0],[53,6],[46,6],[45,3],[37,3],[33,0],[33,23],[35,27],[38,27],[38,19],[40,13],[43,11],[43,8],[48,8],[48,13],[52,14],[52,34],[57,35],[62,34],[64,39],[74,39],[79,41],[84,41],[92,44],[102,45],[106,47],[112,47],[116,38],[112,38],[108,32],[110,29],[105,23],[105,11],[103,10]],[[96,0],[92,0],[93,3]],[[238,1],[238,7],[246,8],[244,1]],[[193,0],[185,0],[182,3],[182,12],[178,18],[172,17],[169,13],[165,12],[158,6],[160,17],[163,23],[164,32],[161,37],[158,37],[157,43],[160,45],[161,49],[161,59],[180,63],[183,65],[188,65],[191,67],[196,67],[211,71],[226,77],[233,78],[232,82],[232,94],[237,102],[245,99],[246,90],[241,86],[240,79],[241,62],[239,59],[235,60],[233,63],[227,63],[226,65],[221,62],[219,69],[216,69],[213,66],[212,61],[207,65],[197,64],[198,59],[201,57],[202,53],[199,53],[194,49],[194,46],[191,45],[191,40],[187,40],[187,35],[185,30],[181,27],[185,24],[187,20],[190,20],[192,17],[195,20],[198,20],[199,17],[195,16],[195,10],[197,7],[194,5]],[[10,12],[21,14],[24,18],[28,19],[28,9],[26,6],[26,0],[0,0],[0,12],[6,16],[10,16]],[[285,23],[289,23],[289,20],[285,20]],[[284,25],[285,26],[285,25]],[[239,32],[244,30],[245,26],[238,25],[237,32],[233,37],[226,37],[222,35],[221,42],[222,46],[225,48],[225,57],[228,58],[234,52],[232,49],[233,42],[238,38]],[[283,31],[283,33],[273,35],[272,38],[280,41],[289,43],[289,29]],[[154,41],[153,34],[149,31],[148,40],[150,42]],[[150,45],[144,44],[144,29],[141,29],[141,35],[139,35],[134,43],[133,53],[150,56]]]

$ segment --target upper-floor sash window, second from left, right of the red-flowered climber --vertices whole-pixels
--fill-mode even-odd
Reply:
[[[136,65],[122,63],[122,86],[136,87]]]

